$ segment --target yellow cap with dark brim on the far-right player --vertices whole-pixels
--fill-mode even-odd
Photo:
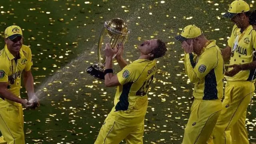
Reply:
[[[232,2],[228,8],[228,12],[226,12],[223,16],[225,18],[233,18],[236,14],[248,12],[250,10],[249,4],[247,4],[243,0],[235,0]]]

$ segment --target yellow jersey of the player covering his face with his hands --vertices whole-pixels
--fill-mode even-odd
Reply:
[[[200,56],[185,54],[188,78],[195,83],[193,96],[200,100],[217,100],[223,96],[224,60],[215,40],[210,40]]]

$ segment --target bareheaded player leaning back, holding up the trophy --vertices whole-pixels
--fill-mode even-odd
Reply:
[[[127,64],[122,58],[123,46],[116,56],[122,68],[113,74],[112,56],[116,53],[106,44],[105,86],[118,86],[114,98],[114,107],[108,114],[94,144],[143,144],[144,117],[148,107],[148,89],[156,73],[156,58],[166,53],[166,45],[161,40],[147,40],[138,48],[138,60]]]

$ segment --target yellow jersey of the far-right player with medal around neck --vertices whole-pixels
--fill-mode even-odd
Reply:
[[[253,51],[256,48],[256,32],[252,26],[248,26],[244,32],[240,32],[240,28],[234,25],[230,39],[228,40],[228,46],[234,51],[234,55],[231,55],[230,65],[233,64],[246,64],[253,61]],[[228,68],[232,70],[233,68]],[[242,70],[235,76],[226,76],[227,81],[246,81],[252,80],[255,70]],[[255,79],[256,76],[254,76]]]

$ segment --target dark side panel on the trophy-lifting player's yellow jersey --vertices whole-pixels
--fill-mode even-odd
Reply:
[[[133,84],[133,82],[128,82],[123,85],[122,94],[119,97],[119,102],[116,104],[115,112],[117,112],[119,110],[128,110],[128,107],[129,107],[128,95],[129,95],[130,89],[132,87],[132,84]]]

